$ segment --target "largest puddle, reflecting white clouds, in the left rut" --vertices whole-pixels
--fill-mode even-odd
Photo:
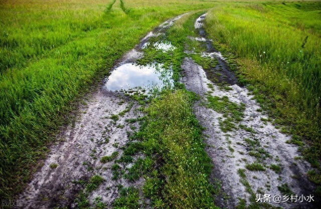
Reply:
[[[111,91],[140,89],[142,92],[150,93],[153,90],[172,87],[172,75],[172,70],[164,69],[159,64],[140,66],[125,63],[111,72],[104,87]]]

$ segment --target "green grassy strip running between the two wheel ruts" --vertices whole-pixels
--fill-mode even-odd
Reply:
[[[156,61],[170,67],[177,89],[164,90],[150,101],[145,110],[145,122],[132,137],[137,141],[129,143],[118,160],[118,163],[131,162],[134,153],[144,154],[145,157],[138,158],[124,177],[135,181],[143,175],[145,183],[141,190],[154,208],[217,208],[214,195],[218,194],[219,184],[214,188],[209,182],[212,164],[205,152],[201,127],[191,109],[197,97],[184,87],[180,89],[182,84],[177,82],[186,35],[191,33],[198,16],[195,13],[186,15],[166,35],[149,40],[144,57],[138,60],[142,65]],[[169,41],[176,49],[167,53],[156,50],[152,43],[157,41]],[[115,173],[119,175],[118,170]],[[132,187],[121,189],[120,197],[113,203],[114,208],[138,207],[139,195],[131,195],[127,190],[135,193]]]

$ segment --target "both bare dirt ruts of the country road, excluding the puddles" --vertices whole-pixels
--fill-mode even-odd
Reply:
[[[147,34],[113,69],[123,64],[134,63],[142,56],[141,49],[150,37],[164,34],[181,17],[167,21]],[[235,208],[240,199],[245,199],[249,204],[251,195],[261,194],[263,197],[264,194],[269,194],[272,198],[269,203],[275,206],[316,208],[316,204],[307,201],[273,202],[273,197],[281,194],[278,186],[285,184],[294,194],[312,194],[314,185],[306,176],[310,166],[299,157],[295,145],[285,143],[290,136],[281,134],[272,126],[267,121],[267,116],[257,111],[260,107],[252,99],[249,91],[237,85],[237,80],[229,71],[224,57],[213,48],[211,40],[206,38],[203,29],[204,18],[205,16],[201,16],[195,23],[200,36],[191,38],[204,42],[207,50],[201,55],[217,59],[222,69],[220,74],[217,74],[217,80],[213,82],[210,78],[219,68],[205,72],[191,58],[186,57],[182,65],[184,73],[181,81],[188,90],[194,91],[202,98],[195,103],[194,111],[201,125],[206,128],[206,151],[214,165],[211,181],[214,183],[218,179],[222,184],[223,195],[217,197],[216,203],[220,207]],[[222,88],[220,85],[224,81],[228,88]],[[226,115],[206,105],[211,98],[209,96],[219,101],[225,98],[243,107],[244,117],[234,124],[235,129],[222,131],[220,124],[226,120]],[[138,122],[128,121],[143,117],[143,113],[139,111],[140,105],[123,93],[109,91],[104,86],[88,95],[86,103],[79,110],[78,120],[69,125],[58,137],[59,142],[50,148],[51,152],[42,169],[34,175],[26,191],[19,196],[20,205],[17,208],[75,208],[75,198],[83,189],[79,182],[88,181],[96,174],[105,180],[98,189],[89,194],[91,205],[95,197],[100,196],[101,201],[110,208],[114,199],[119,196],[119,184],[139,188],[144,183],[143,178],[135,182],[123,178],[111,180],[112,162],[100,161],[103,156],[116,153],[117,157],[122,154],[120,148],[129,141],[130,132],[139,127]],[[263,168],[251,170],[246,167],[254,162],[259,162]],[[271,169],[273,165],[275,167]],[[148,206],[148,200],[145,201],[145,205]]]

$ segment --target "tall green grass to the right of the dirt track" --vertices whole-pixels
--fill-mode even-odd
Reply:
[[[284,119],[277,122],[310,140],[314,165],[321,157],[320,11],[320,2],[222,4],[206,19],[211,38],[269,95],[272,112]]]

